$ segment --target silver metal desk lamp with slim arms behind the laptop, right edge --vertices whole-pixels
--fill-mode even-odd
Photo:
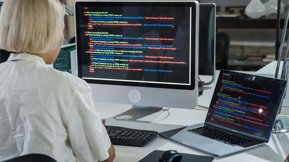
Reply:
[[[284,40],[285,40],[285,35],[286,35],[286,30],[287,30],[287,25],[288,25],[288,19],[289,19],[289,5],[288,5],[287,13],[286,13],[285,24],[284,24],[284,29],[283,29],[282,39],[281,39],[281,46],[280,46],[279,54],[278,54],[278,61],[277,61],[275,78],[278,77],[278,72],[279,72],[279,68],[280,68],[281,54],[282,54],[282,49],[283,49],[282,47],[284,45]],[[289,42],[289,37],[288,37],[288,42]],[[281,78],[280,78],[280,79],[286,80],[287,82],[288,82],[288,75],[289,75],[288,51],[289,51],[289,43],[287,43],[287,46],[286,46],[286,52],[285,52],[285,56],[284,56],[284,62],[283,62]],[[272,133],[281,133],[281,132],[288,132],[289,131],[289,118],[279,115],[281,113],[283,100],[286,97],[286,92],[287,92],[287,87],[285,89],[283,99],[282,99],[281,104],[280,104],[279,112],[278,112],[278,115],[276,117],[276,121],[275,121],[275,125],[273,127]]]

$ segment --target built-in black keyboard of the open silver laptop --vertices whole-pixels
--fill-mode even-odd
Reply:
[[[208,126],[188,129],[187,131],[208,137],[219,142],[223,142],[225,144],[229,144],[231,146],[237,146],[253,141],[248,138],[234,135]]]

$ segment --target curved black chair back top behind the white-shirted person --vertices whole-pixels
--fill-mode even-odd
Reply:
[[[43,154],[28,154],[3,162],[57,162],[57,161]]]

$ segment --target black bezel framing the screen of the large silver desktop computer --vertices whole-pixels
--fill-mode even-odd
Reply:
[[[195,1],[76,1],[75,2],[75,37],[76,42],[80,41],[80,8],[79,6],[151,6],[149,3],[155,3],[154,5],[165,6],[164,3],[174,3],[174,5],[180,5],[186,7],[192,7],[192,16],[191,16],[191,26],[195,28],[195,30],[191,31],[191,82],[190,85],[177,85],[177,84],[160,84],[160,83],[145,83],[140,84],[139,82],[131,82],[131,81],[112,81],[112,80],[94,80],[94,79],[84,79],[86,82],[91,84],[107,84],[107,85],[120,85],[120,86],[141,86],[141,87],[150,87],[150,88],[167,88],[167,89],[181,89],[181,90],[194,90],[196,88],[195,82],[196,76],[196,68],[198,68],[198,64],[195,64],[196,59],[198,59],[198,14],[197,14],[197,3]],[[110,4],[108,4],[110,3]],[[196,12],[194,12],[196,11]],[[195,39],[194,39],[195,37]],[[81,53],[81,44],[76,43],[77,53]],[[77,48],[78,47],[78,48]],[[78,77],[82,78],[82,66],[81,66],[81,56],[77,55],[77,71]]]

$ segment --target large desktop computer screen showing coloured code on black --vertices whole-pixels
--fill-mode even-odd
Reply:
[[[89,83],[194,89],[195,8],[176,2],[82,2],[79,77]]]

